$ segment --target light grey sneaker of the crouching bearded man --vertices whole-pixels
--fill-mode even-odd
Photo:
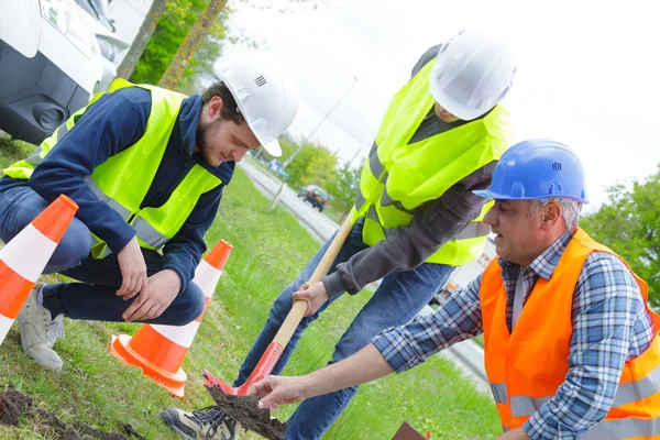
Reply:
[[[23,351],[41,366],[59,371],[62,370],[62,359],[53,351],[53,344],[58,337],[64,337],[62,326],[64,317],[59,315],[53,320],[51,311],[36,302],[36,295],[42,287],[42,284],[34,285],[19,312],[21,345],[23,345]]]

